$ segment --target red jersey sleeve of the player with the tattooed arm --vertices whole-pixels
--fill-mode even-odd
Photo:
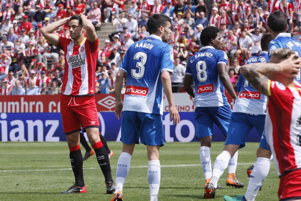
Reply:
[[[268,98],[276,105],[287,105],[287,101],[291,99],[292,92],[290,89],[280,82],[268,80]]]

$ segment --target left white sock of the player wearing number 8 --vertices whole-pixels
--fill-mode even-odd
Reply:
[[[209,179],[212,176],[210,147],[200,147],[200,160],[203,167],[203,173],[205,179]]]

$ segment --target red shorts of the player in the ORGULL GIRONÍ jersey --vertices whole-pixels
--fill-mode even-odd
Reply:
[[[65,134],[87,128],[99,128],[94,96],[66,96],[61,94],[61,117]]]

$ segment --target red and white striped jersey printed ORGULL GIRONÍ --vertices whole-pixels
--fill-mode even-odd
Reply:
[[[79,45],[74,45],[70,38],[59,38],[57,47],[65,52],[61,93],[69,96],[94,95],[98,38],[94,43],[84,38]]]

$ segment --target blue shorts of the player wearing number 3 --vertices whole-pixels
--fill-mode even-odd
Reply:
[[[162,116],[136,111],[123,111],[121,139],[125,144],[164,145]]]

